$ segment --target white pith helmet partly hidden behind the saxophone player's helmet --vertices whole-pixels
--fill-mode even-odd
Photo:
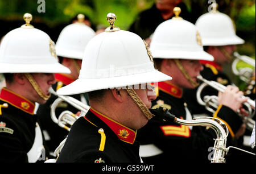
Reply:
[[[92,28],[84,24],[84,15],[79,14],[77,18],[77,23],[69,24],[60,32],[56,42],[57,56],[82,60],[86,45],[95,36]]]

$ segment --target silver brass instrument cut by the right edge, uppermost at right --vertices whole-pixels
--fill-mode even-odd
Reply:
[[[238,52],[234,52],[233,55],[235,57],[235,59],[232,63],[233,73],[236,74],[237,76],[239,76],[242,81],[245,81],[246,83],[250,82],[250,78],[253,74],[253,69],[251,69],[249,67],[237,69],[237,63],[240,60],[242,60],[245,63],[247,63],[255,68],[255,60],[249,56],[240,55]]]

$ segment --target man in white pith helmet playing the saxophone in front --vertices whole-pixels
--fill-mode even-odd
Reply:
[[[110,27],[85,48],[79,78],[57,90],[59,95],[88,92],[90,109],[71,127],[57,162],[139,163],[135,141],[153,115],[150,82],[171,80],[154,69],[147,45],[136,34]]]

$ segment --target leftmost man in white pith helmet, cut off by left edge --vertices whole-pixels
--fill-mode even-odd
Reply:
[[[0,154],[2,162],[36,162],[48,158],[35,102],[46,103],[54,73],[70,73],[58,63],[51,38],[26,24],[7,33],[0,45],[0,73],[6,87],[0,93]]]

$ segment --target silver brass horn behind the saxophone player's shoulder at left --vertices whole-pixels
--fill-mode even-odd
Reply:
[[[60,127],[64,128],[65,130],[70,131],[71,126],[73,125],[73,123],[81,115],[85,115],[88,112],[88,110],[90,109],[90,106],[85,105],[85,103],[82,103],[81,101],[76,100],[73,97],[70,97],[70,96],[58,96],[57,93],[52,88],[49,89],[49,92],[58,97],[52,103],[52,105],[51,105],[51,118],[52,118],[52,121],[55,122]],[[57,118],[56,114],[55,114],[55,109],[56,109],[57,105],[59,105],[59,103],[61,103],[63,101],[69,103],[73,107],[76,107],[76,109],[81,111],[81,114],[80,115],[76,115],[76,114],[73,114],[71,111],[66,110],[66,111],[63,111],[59,115],[59,118]]]

